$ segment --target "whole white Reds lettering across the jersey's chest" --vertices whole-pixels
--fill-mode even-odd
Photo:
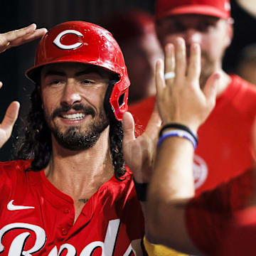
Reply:
[[[102,256],[112,256],[114,254],[114,246],[117,242],[117,237],[119,233],[119,225],[120,220],[110,220],[108,226],[107,226],[107,233],[105,236],[104,242],[102,241],[95,241],[90,242],[90,244],[86,245],[82,252],[80,253],[80,256],[92,256],[93,252],[97,250],[97,248],[102,248]],[[30,233],[23,232],[20,235],[16,236],[14,240],[11,242],[11,246],[9,249],[9,252],[6,252],[6,255],[8,253],[9,256],[14,255],[23,255],[23,256],[32,256],[33,253],[36,253],[43,249],[44,245],[46,245],[46,233],[45,231],[36,226],[31,225],[27,223],[12,223],[9,225],[4,226],[4,228],[1,228],[0,230],[0,255],[1,252],[4,251],[4,245],[2,245],[2,238],[7,232],[10,232],[14,229],[25,229],[25,230],[32,230],[36,233],[36,242],[33,247],[28,251],[23,251],[26,240],[30,236]],[[129,256],[131,255],[131,252],[134,252],[134,255],[141,256],[142,254],[142,248],[140,246],[141,240],[133,240],[131,245],[127,248],[126,252],[124,252],[123,256]],[[65,243],[60,246],[60,250],[58,251],[58,247],[55,246],[50,250],[48,256],[60,256],[62,255],[63,251],[65,250],[65,253],[67,256],[77,256],[77,251],[73,245],[70,245],[68,243]]]

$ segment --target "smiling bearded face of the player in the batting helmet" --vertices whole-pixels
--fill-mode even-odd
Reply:
[[[46,122],[60,146],[88,149],[109,125],[104,99],[111,75],[80,63],[46,65],[41,95]]]

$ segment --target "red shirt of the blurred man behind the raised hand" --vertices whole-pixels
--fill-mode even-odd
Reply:
[[[196,194],[215,188],[252,166],[251,129],[256,114],[256,87],[231,75],[206,122],[198,129],[193,171]],[[132,105],[137,134],[154,107],[154,97]]]

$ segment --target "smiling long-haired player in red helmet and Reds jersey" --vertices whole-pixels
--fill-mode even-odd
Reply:
[[[43,33],[33,26],[1,34],[1,48]],[[129,78],[111,33],[85,21],[55,26],[26,76],[35,88],[18,160],[0,164],[0,255],[146,255],[133,178],[146,180],[124,166],[122,144],[132,166],[129,149],[147,138],[134,139],[125,118],[122,129]],[[0,146],[18,107],[6,111]]]

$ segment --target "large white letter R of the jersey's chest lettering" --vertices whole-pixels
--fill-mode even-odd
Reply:
[[[4,226],[0,230],[0,253],[4,251],[4,245],[2,245],[1,241],[3,236],[14,229],[26,229],[32,230],[36,233],[36,242],[35,245],[28,251],[23,251],[23,248],[26,243],[26,239],[30,235],[28,232],[22,233],[18,235],[13,242],[11,242],[11,247],[9,249],[8,255],[23,255],[23,256],[31,256],[31,253],[38,252],[43,248],[46,244],[46,233],[43,228],[38,227],[37,225],[31,225],[27,223],[12,223]]]

